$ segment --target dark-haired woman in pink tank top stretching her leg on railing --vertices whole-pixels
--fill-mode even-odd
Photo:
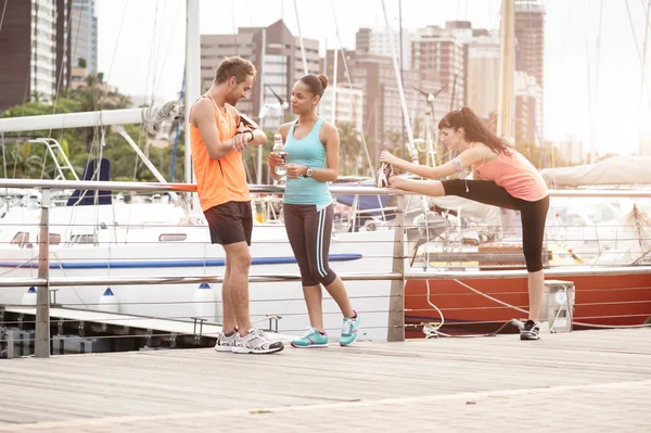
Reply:
[[[441,138],[459,156],[439,167],[411,164],[384,151],[380,161],[417,176],[441,179],[472,167],[472,179],[409,180],[390,176],[391,187],[430,196],[458,195],[493,206],[515,209],[522,219],[522,250],[528,271],[529,313],[521,340],[538,340],[542,304],[542,239],[549,191],[536,168],[503,139],[493,133],[468,107],[452,111],[438,123]]]

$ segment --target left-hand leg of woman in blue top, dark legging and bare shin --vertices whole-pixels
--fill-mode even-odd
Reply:
[[[307,306],[307,315],[309,316],[309,324],[316,328],[319,332],[323,332],[323,309],[321,306],[322,294],[321,284],[312,277],[310,270],[310,260],[308,253],[306,233],[306,220],[309,219],[309,211],[307,205],[284,204],[284,222],[288,238],[298,269],[301,269],[301,281],[303,284],[303,296]]]

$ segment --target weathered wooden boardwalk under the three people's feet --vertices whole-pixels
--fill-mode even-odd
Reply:
[[[0,360],[0,432],[651,431],[651,329]]]

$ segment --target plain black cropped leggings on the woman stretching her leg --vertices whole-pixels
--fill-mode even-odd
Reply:
[[[549,211],[549,195],[537,202],[515,199],[502,187],[490,180],[443,180],[445,195],[458,195],[475,202],[520,211],[522,219],[522,251],[526,270],[537,272],[542,269],[542,239],[545,221]]]

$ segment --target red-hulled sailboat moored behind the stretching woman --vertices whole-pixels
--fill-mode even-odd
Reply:
[[[500,68],[500,101],[498,115],[498,133],[509,136],[510,113],[513,101],[512,74],[514,68],[514,40],[513,40],[513,0],[502,1],[501,23],[501,68]],[[630,165],[628,165],[630,164]],[[629,169],[630,168],[630,169]],[[598,186],[628,183],[629,176],[641,171],[646,173],[636,177],[636,181],[648,183],[648,163],[643,161],[631,162],[626,157],[613,158],[600,165],[590,167],[572,167],[544,170],[542,176],[548,179],[550,188],[561,184]],[[626,178],[626,179],[625,179]],[[647,179],[644,181],[644,179]],[[554,183],[556,182],[556,183]],[[490,206],[476,206],[469,208],[462,199],[443,198],[433,201],[447,209],[465,209],[481,218],[487,215]],[[447,201],[447,203],[445,202]],[[553,202],[552,202],[553,204]],[[576,203],[573,203],[577,206]],[[548,220],[548,241],[550,240],[549,226],[553,226],[553,208],[550,209],[551,218]],[[482,214],[484,213],[484,214]],[[635,214],[639,216],[639,214]],[[651,273],[648,267],[648,253],[651,244],[648,242],[649,224],[644,218],[635,220],[616,221],[620,229],[620,246],[616,256],[610,255],[613,260],[596,262],[596,266],[584,266],[582,259],[572,251],[561,251],[570,258],[570,263],[577,262],[578,266],[550,266],[553,255],[548,251],[546,279],[557,280],[561,284],[572,284],[575,293],[574,302],[570,306],[567,297],[548,298],[553,305],[544,305],[542,308],[556,308],[562,313],[563,320],[572,318],[574,329],[614,327],[614,326],[642,326],[651,319]],[[595,229],[593,227],[591,227]],[[626,230],[628,228],[628,230]],[[553,229],[553,228],[552,228]],[[628,238],[626,238],[628,237]],[[441,238],[438,238],[441,240]],[[631,257],[626,263],[629,267],[608,269],[607,266],[622,266],[626,260],[623,241],[627,243],[627,251]],[[609,240],[605,240],[608,243]],[[613,240],[614,242],[617,239]],[[463,243],[463,242],[460,242]],[[477,240],[476,243],[480,243]],[[548,242],[549,244],[549,242]],[[490,268],[495,258],[505,256],[520,256],[502,259],[502,264],[510,266],[501,269],[524,268],[519,239],[512,243],[486,242],[478,245],[474,253],[443,251],[438,258],[424,255],[424,264],[418,264],[424,269],[442,269],[455,273],[448,279],[410,279],[405,286],[405,319],[406,335],[408,338],[423,338],[430,335],[445,335],[448,333],[484,333],[503,330],[518,332],[516,327],[505,328],[505,323],[518,323],[516,319],[526,317],[528,305],[527,280],[523,278],[507,278],[507,276],[482,276],[482,268]],[[550,259],[551,258],[551,259]],[[604,256],[597,257],[603,259]],[[438,263],[431,263],[431,262]],[[482,263],[482,260],[485,260]],[[566,264],[565,264],[566,265]],[[635,266],[637,265],[637,266]],[[494,268],[495,269],[495,268]],[[413,268],[412,268],[413,270]],[[507,272],[508,273],[508,272]],[[554,281],[549,281],[554,283]],[[566,307],[564,310],[562,307]],[[558,305],[557,305],[558,304]],[[549,308],[549,309],[553,309]],[[542,314],[549,320],[548,327],[553,328],[552,321],[557,316],[549,318],[547,311]],[[515,321],[513,321],[515,319]],[[549,328],[548,328],[549,329]]]

